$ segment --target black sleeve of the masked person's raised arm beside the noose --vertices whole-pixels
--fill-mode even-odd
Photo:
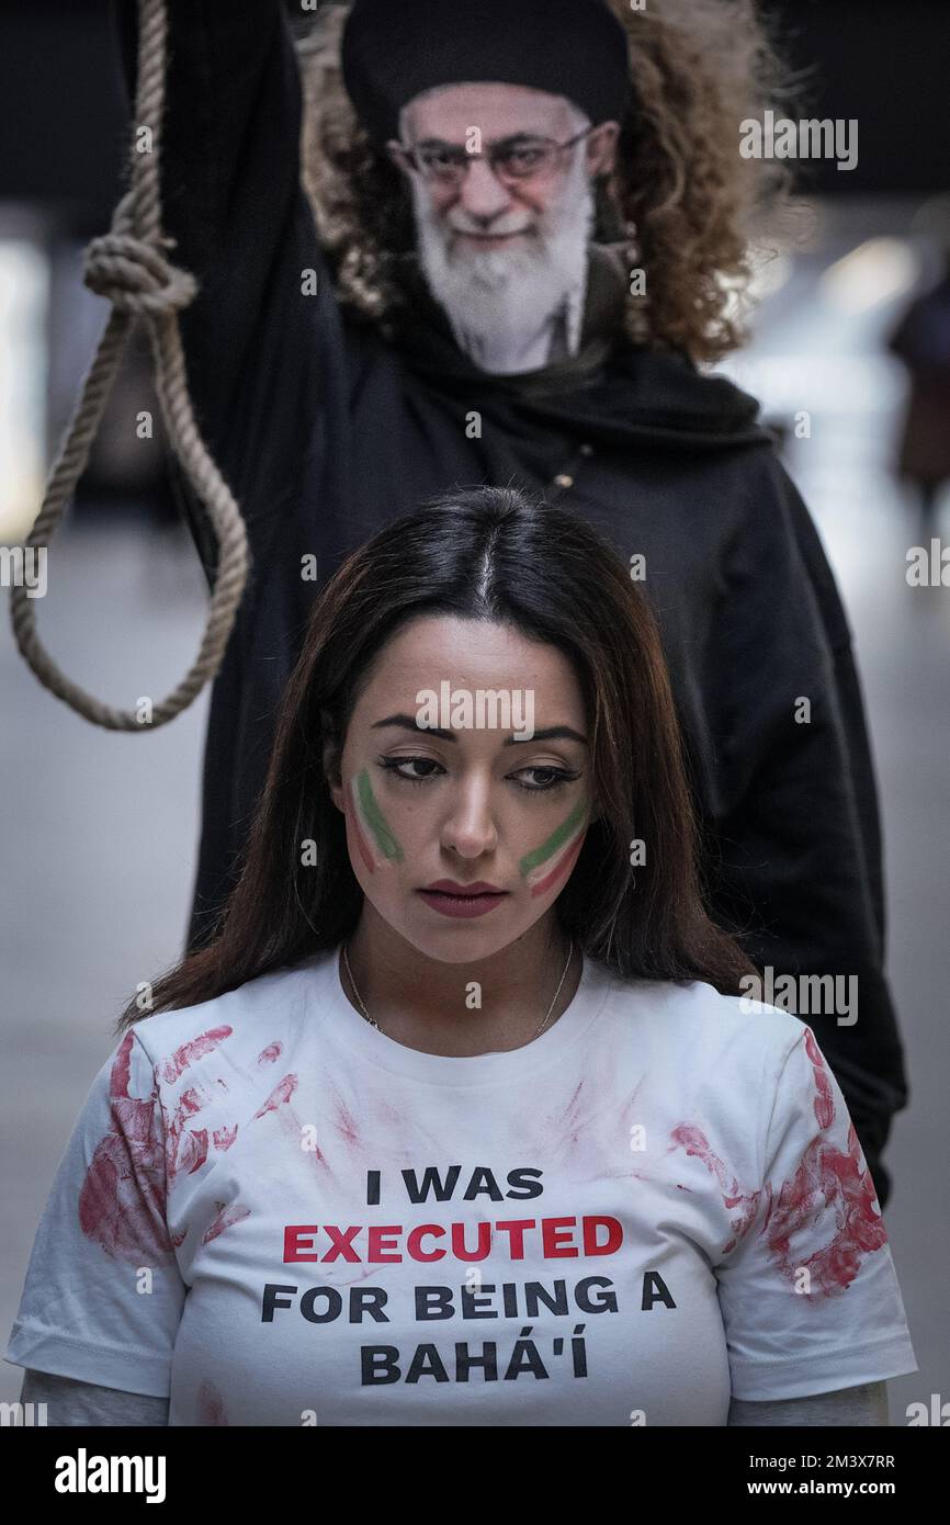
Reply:
[[[130,111],[136,0],[111,0]],[[168,0],[162,220],[198,294],[180,314],[201,438],[235,494],[259,566],[319,427],[339,313],[300,186],[302,90],[279,0]],[[316,294],[303,291],[313,270]],[[331,389],[332,390],[332,389]],[[169,453],[172,491],[213,581],[215,540]]]

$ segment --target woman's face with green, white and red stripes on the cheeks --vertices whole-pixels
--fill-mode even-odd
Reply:
[[[448,964],[489,958],[544,915],[592,816],[570,663],[485,621],[425,616],[393,636],[340,772],[331,793],[366,900]]]

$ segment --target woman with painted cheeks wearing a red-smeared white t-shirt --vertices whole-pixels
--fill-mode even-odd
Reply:
[[[916,1362],[871,1176],[747,976],[624,563],[515,490],[387,526],[314,608],[220,935],[119,1020],[8,1347],[24,1397],[886,1423]]]

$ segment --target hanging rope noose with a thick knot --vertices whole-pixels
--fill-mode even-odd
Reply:
[[[139,0],[134,127],[136,131],[143,127],[151,130],[151,152],[137,152],[133,139],[131,188],[116,207],[111,230],[104,238],[95,238],[85,250],[82,279],[98,296],[110,299],[113,313],[82,383],[43,506],[24,546],[35,547],[52,540],[85,468],[128,336],[136,320],[140,320],[148,329],[156,363],[156,392],[169,442],[207,506],[218,541],[218,572],[204,637],[191,671],[166,698],[151,708],[151,715],[143,723],[134,711],[104,705],[59,671],[37,634],[34,599],[27,596],[26,586],[11,587],[14,634],[32,671],[78,715],[108,730],[151,730],[174,720],[198,697],[224,657],[249,569],[241,511],[201,442],[188,395],[177,314],[194,300],[198,285],[186,270],[172,265],[163,252],[175,246],[175,239],[162,235],[159,178],[166,35],[165,0]]]

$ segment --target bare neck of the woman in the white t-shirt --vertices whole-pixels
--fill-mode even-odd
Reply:
[[[360,1016],[361,997],[380,1031],[396,1043],[425,1054],[471,1057],[531,1043],[558,990],[569,949],[549,912],[491,958],[445,964],[419,953],[364,901],[346,944],[355,990],[343,961],[340,979]],[[575,949],[546,1029],[572,1002],[581,965]]]

